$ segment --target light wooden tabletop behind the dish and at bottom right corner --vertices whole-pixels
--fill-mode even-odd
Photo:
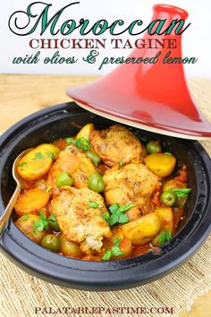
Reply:
[[[24,116],[70,100],[65,94],[67,87],[86,84],[96,78],[94,76],[0,75],[0,133]],[[211,100],[211,80],[191,80],[193,93],[198,92],[198,82],[206,91],[207,98]],[[198,104],[201,94],[203,91],[200,90],[195,96]],[[201,110],[203,112],[203,107]],[[205,296],[200,296],[192,306],[191,312],[182,314],[181,317],[207,317],[210,312],[211,291]]]

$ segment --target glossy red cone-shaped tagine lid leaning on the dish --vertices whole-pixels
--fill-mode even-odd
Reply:
[[[152,21],[166,19],[168,26],[173,20],[187,17],[181,8],[156,4]],[[169,35],[145,34],[143,39],[174,41],[176,48],[135,48],[129,57],[137,61],[148,57],[153,62],[153,57],[159,55],[156,63],[120,64],[89,85],[68,89],[68,96],[80,107],[122,124],[184,139],[210,137],[211,125],[200,114],[185,80],[183,63],[188,63],[190,57],[174,63],[173,58],[182,60],[181,35],[175,35],[173,29]]]

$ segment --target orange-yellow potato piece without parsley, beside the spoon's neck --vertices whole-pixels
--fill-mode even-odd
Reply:
[[[42,189],[32,188],[21,193],[14,204],[14,210],[19,215],[38,214],[39,210],[46,207],[49,201],[49,193]]]

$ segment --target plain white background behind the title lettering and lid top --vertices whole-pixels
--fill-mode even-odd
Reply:
[[[77,1],[77,0],[75,0]],[[197,64],[186,64],[185,71],[188,77],[211,77],[211,1],[210,0],[172,0],[172,1],[158,1],[158,0],[79,0],[80,4],[71,6],[66,14],[63,14],[62,20],[73,19],[80,21],[81,18],[89,19],[95,22],[100,19],[106,19],[110,23],[117,19],[125,21],[125,25],[129,25],[131,21],[140,19],[144,21],[145,27],[148,25],[152,16],[152,6],[157,2],[163,4],[173,4],[189,12],[189,19],[191,26],[182,35],[183,56],[196,56],[198,58]],[[29,47],[30,39],[39,39],[38,30],[31,36],[20,37],[14,35],[8,28],[8,19],[10,15],[18,10],[25,11],[28,4],[33,0],[10,0],[1,1],[1,59],[0,59],[0,73],[67,73],[67,74],[103,74],[114,68],[114,65],[106,66],[102,71],[97,70],[97,64],[87,64],[78,62],[77,64],[13,64],[14,56],[31,55],[37,52]],[[53,8],[49,13],[52,15],[61,9],[64,5],[70,4],[73,1],[69,0],[44,0],[43,2],[53,4]],[[81,37],[77,30],[74,31],[70,38],[78,39]],[[120,36],[122,39],[134,39],[128,33]],[[138,38],[141,38],[139,36]],[[52,38],[49,32],[46,32],[42,37]],[[59,35],[56,38],[63,39]],[[66,37],[67,38],[67,37]],[[89,35],[87,38],[94,38]],[[101,36],[102,39],[109,39],[108,32]],[[98,38],[100,39],[100,38]],[[42,57],[53,56],[56,49],[41,50]],[[87,56],[90,49],[61,49],[61,56],[77,56],[81,60],[82,56]],[[100,57],[104,56],[127,56],[131,54],[130,49],[113,49],[108,45],[105,49],[100,50]],[[42,58],[42,59],[43,59]]]

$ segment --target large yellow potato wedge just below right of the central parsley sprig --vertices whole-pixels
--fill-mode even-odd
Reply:
[[[121,226],[123,235],[129,238],[133,245],[148,244],[157,235],[160,227],[160,218],[155,213]]]

